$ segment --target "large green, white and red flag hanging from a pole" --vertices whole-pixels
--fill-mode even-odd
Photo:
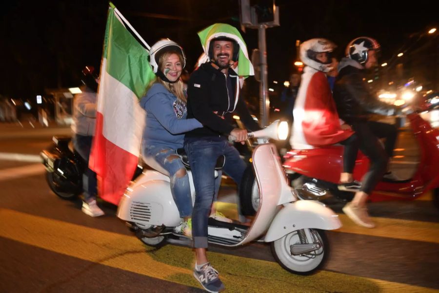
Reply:
[[[139,99],[155,77],[147,60],[148,51],[125,25],[129,23],[110,3],[95,138],[89,160],[90,168],[98,176],[100,197],[115,205],[119,204],[137,167],[145,119]]]

